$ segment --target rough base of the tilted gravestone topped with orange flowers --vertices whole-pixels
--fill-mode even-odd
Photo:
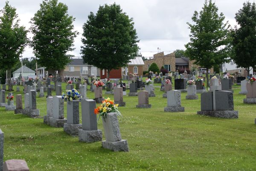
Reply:
[[[127,140],[121,140],[118,142],[102,141],[102,147],[109,149],[111,151],[125,151],[125,152],[129,151]]]

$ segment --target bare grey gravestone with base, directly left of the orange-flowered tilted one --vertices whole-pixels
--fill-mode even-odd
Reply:
[[[82,128],[78,131],[79,141],[102,141],[102,130],[97,128],[97,116],[94,114],[96,102],[92,99],[82,99]]]

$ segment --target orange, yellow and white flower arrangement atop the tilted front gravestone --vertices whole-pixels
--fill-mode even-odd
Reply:
[[[102,117],[104,121],[110,112],[116,112],[118,116],[122,116],[122,114],[118,111],[118,104],[115,104],[114,101],[110,100],[109,97],[103,100],[102,104],[94,109],[94,114],[99,114],[99,117]]]

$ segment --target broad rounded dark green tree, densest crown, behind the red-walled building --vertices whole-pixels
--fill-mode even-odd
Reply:
[[[133,19],[119,5],[99,6],[83,26],[81,54],[84,63],[107,69],[126,66],[136,56],[139,47]]]

